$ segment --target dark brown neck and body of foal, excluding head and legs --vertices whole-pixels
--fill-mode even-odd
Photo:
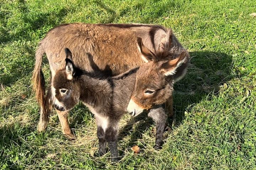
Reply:
[[[80,100],[96,112],[112,108],[116,112],[126,112],[135,86],[138,68],[108,79],[100,79],[88,73],[79,76]]]

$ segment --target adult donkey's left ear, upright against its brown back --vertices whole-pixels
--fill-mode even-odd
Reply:
[[[144,46],[142,39],[137,37],[138,49],[141,52],[142,60],[146,63],[152,61],[155,58],[155,55],[147,47]]]

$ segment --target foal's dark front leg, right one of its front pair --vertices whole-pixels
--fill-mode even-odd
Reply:
[[[118,149],[117,149],[117,127],[118,127],[118,122],[115,120],[109,121],[111,124],[108,125],[106,131],[105,131],[105,139],[108,143],[108,147],[110,148],[111,152],[111,161],[116,162],[120,160],[121,158],[119,157],[118,154]]]

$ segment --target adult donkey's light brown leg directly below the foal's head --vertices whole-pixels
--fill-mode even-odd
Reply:
[[[69,139],[75,139],[75,136],[73,134],[73,132],[71,131],[70,127],[69,127],[69,123],[68,123],[68,111],[57,111],[58,117],[59,117],[59,121],[60,124],[62,126],[62,132],[64,135],[66,135],[67,138]]]

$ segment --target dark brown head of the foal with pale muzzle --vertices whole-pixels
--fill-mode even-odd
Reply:
[[[56,72],[52,87],[52,94],[55,96],[54,107],[59,111],[69,111],[79,102],[80,98],[80,89],[76,84],[72,54],[67,48],[65,53],[65,68]]]

